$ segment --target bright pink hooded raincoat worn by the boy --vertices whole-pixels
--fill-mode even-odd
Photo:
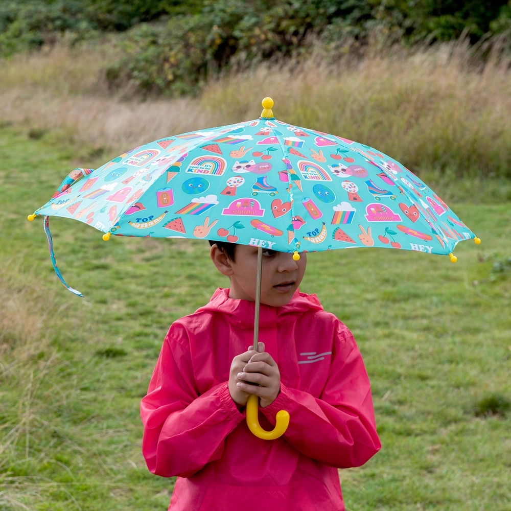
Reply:
[[[176,511],[342,511],[337,468],[358,467],[380,449],[369,380],[353,335],[316,295],[262,305],[259,340],[281,374],[281,393],[259,422],[270,430],[287,410],[287,431],[262,440],[248,429],[227,387],[230,364],[253,342],[254,303],[218,289],[175,321],[142,400],[149,470],[179,476]]]

